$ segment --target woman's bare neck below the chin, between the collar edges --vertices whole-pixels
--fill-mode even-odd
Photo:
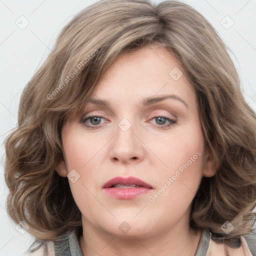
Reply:
[[[83,228],[83,234],[79,237],[83,256],[194,256],[201,237],[201,231],[181,228],[179,225],[146,237],[118,236],[95,229],[88,222],[84,226],[86,228]]]

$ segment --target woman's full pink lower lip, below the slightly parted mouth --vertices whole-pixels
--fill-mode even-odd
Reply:
[[[108,187],[104,188],[106,194],[117,199],[133,199],[137,196],[147,193],[151,190],[148,187],[131,187],[131,188],[118,188]]]

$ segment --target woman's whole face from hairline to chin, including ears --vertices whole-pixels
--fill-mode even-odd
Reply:
[[[181,71],[164,47],[121,55],[84,111],[63,126],[66,168],[59,164],[57,172],[69,173],[83,226],[141,237],[188,229],[200,180],[215,170],[204,150],[196,95]],[[114,187],[104,188],[117,176],[149,187],[115,180]]]

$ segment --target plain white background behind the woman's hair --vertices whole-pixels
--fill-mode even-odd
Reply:
[[[50,53],[60,29],[82,8],[95,0],[0,0],[0,256],[23,253],[33,241],[20,234],[5,210],[7,187],[3,178],[3,139],[17,123],[21,91]],[[160,0],[154,0],[160,2]],[[208,19],[231,50],[248,104],[256,110],[256,0],[184,1]],[[29,24],[20,29],[23,15]],[[226,29],[222,22],[229,25]],[[226,20],[226,21],[225,21]],[[254,95],[254,97],[253,97]],[[254,99],[253,99],[254,98]]]

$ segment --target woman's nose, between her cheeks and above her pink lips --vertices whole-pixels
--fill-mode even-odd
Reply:
[[[134,126],[130,122],[127,123],[127,120],[118,123],[116,134],[110,141],[109,157],[111,161],[128,164],[143,160],[143,143],[139,139],[138,132],[135,134],[134,131]]]

